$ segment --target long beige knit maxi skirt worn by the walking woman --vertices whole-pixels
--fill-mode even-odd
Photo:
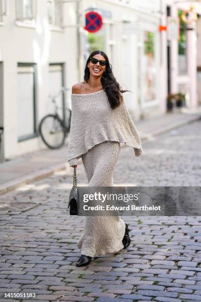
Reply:
[[[105,141],[82,154],[89,187],[112,187],[120,143]],[[77,246],[81,254],[98,257],[123,249],[125,223],[119,216],[86,216]]]

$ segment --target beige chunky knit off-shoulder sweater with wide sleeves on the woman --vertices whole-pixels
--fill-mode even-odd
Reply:
[[[112,109],[104,90],[71,94],[71,109],[67,147],[67,161],[70,165],[76,165],[82,154],[105,141],[134,147],[136,156],[143,153],[139,134],[124,101]]]

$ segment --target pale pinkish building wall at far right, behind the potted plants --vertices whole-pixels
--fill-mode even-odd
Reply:
[[[195,11],[201,14],[201,3],[194,2]],[[170,7],[171,17],[178,17],[178,10],[188,10],[192,5],[192,1],[173,1],[163,0],[163,17],[162,25],[167,26],[167,6]],[[172,38],[169,43],[171,47],[170,52],[170,87],[171,93],[186,93],[186,106],[188,108],[196,108],[198,106],[197,97],[197,49],[199,49],[199,43],[197,40],[197,31],[200,22],[197,23],[195,30],[187,31],[187,72],[185,75],[179,75],[179,57],[178,57],[178,38]],[[163,84],[163,99],[167,95],[167,33],[164,32],[162,36],[162,78]],[[198,54],[199,56],[199,54]],[[165,60],[166,59],[166,60]]]

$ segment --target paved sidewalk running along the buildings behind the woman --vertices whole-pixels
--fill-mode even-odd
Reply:
[[[182,111],[183,113],[166,113],[135,122],[141,140],[152,140],[153,136],[201,118],[201,108],[194,112],[185,108]],[[0,194],[61,169],[70,169],[67,163],[67,145],[60,150],[45,149],[0,163]]]

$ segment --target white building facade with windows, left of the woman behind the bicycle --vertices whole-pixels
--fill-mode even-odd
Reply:
[[[6,159],[45,148],[37,128],[54,112],[49,96],[77,81],[76,28],[64,28],[64,22],[61,1],[0,0],[1,156]],[[61,94],[58,105],[68,98]]]

